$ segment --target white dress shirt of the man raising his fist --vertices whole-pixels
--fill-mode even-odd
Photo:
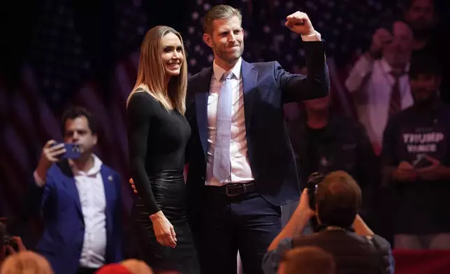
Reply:
[[[321,35],[316,32],[310,36],[301,36],[303,41],[321,41]],[[222,86],[221,78],[226,72],[217,66],[216,62],[212,64],[213,74],[210,84],[210,93],[208,95],[208,163],[206,164],[206,182],[205,185],[222,186],[230,182],[244,183],[254,180],[252,169],[250,168],[247,155],[247,137],[245,132],[245,113],[244,113],[244,92],[242,89],[241,75],[242,58],[231,69],[231,140],[230,140],[230,161],[231,175],[223,184],[212,175],[212,166],[214,161],[214,148],[216,138],[216,115],[217,103],[219,101],[219,92]]]

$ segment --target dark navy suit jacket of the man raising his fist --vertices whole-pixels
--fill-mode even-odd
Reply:
[[[264,199],[282,206],[300,196],[296,161],[289,140],[283,105],[326,96],[330,81],[324,41],[303,43],[307,76],[284,71],[278,62],[247,63],[242,60],[245,130],[249,164],[256,189]],[[188,214],[191,228],[202,207],[208,152],[208,95],[212,66],[189,78],[186,117],[191,125],[187,146]]]

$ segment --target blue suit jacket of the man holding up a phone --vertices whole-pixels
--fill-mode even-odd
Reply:
[[[102,165],[106,196],[106,264],[122,261],[122,199],[119,173]],[[67,161],[48,170],[45,187],[31,182],[31,203],[43,215],[43,235],[36,252],[50,262],[55,274],[75,274],[85,236],[85,221],[75,178]]]

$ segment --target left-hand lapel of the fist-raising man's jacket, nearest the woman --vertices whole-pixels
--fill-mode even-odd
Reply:
[[[212,77],[212,67],[205,69],[198,75],[198,85],[196,85],[196,117],[198,134],[200,135],[201,146],[205,157],[208,153],[208,95]]]

